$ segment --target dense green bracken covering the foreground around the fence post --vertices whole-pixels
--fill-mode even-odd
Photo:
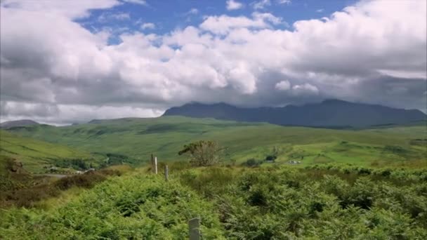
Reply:
[[[169,182],[138,171],[49,211],[9,208],[0,238],[426,239],[427,171],[171,165]],[[173,171],[175,170],[175,171]]]

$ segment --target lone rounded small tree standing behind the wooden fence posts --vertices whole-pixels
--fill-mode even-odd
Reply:
[[[178,154],[190,154],[192,166],[211,166],[220,161],[223,149],[214,141],[201,140],[184,145]]]

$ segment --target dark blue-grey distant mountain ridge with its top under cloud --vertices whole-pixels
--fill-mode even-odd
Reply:
[[[329,99],[320,103],[286,107],[242,108],[216,103],[190,103],[172,107],[164,116],[190,116],[233,121],[259,121],[282,126],[367,127],[423,121],[427,115],[418,109],[396,109],[382,105]]]

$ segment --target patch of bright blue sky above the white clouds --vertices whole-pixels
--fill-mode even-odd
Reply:
[[[167,34],[175,29],[201,24],[209,15],[250,16],[254,12],[272,13],[287,24],[276,26],[280,29],[292,29],[298,20],[328,17],[346,6],[355,4],[355,0],[280,0],[235,1],[241,8],[228,10],[227,2],[222,0],[167,0],[167,1],[130,1],[110,9],[92,10],[88,18],[76,20],[91,32],[113,29],[110,44],[120,42],[119,34],[126,32],[144,32],[145,34]],[[256,4],[259,7],[256,8]],[[263,8],[261,8],[263,6]],[[149,25],[147,25],[149,23]],[[143,28],[143,24],[146,24]],[[154,25],[154,27],[151,24]]]

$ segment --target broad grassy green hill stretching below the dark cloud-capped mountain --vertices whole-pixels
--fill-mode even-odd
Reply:
[[[29,126],[9,131],[87,152],[121,154],[137,163],[148,161],[151,153],[157,154],[160,161],[183,159],[178,151],[196,140],[218,141],[228,147],[225,158],[237,163],[276,154],[279,163],[298,160],[301,166],[423,161],[427,146],[425,126],[343,131],[183,116],[94,120],[77,126]]]

